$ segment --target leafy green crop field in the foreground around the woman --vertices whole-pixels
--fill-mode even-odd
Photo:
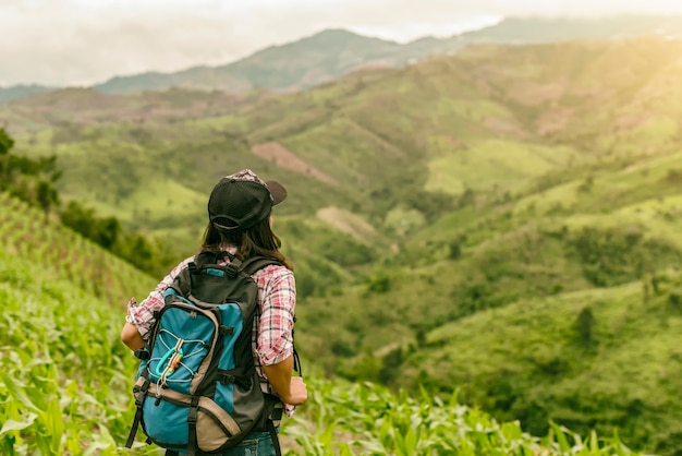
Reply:
[[[12,224],[0,237],[0,452],[160,454],[142,442],[132,452],[123,448],[134,412],[130,391],[136,365],[118,340],[124,309],[117,301],[133,289],[148,289],[150,279],[63,227],[48,223],[35,229],[40,213],[4,193],[0,201],[0,215]],[[108,280],[106,288],[89,283],[101,279]],[[407,455],[455,448],[559,455],[583,441],[558,427],[535,439],[517,423],[498,423],[454,400],[398,398],[370,384],[308,383],[310,404],[285,421],[282,443],[288,455]],[[425,423],[417,431],[416,416]],[[385,424],[375,429],[381,420]],[[439,424],[426,425],[430,423]],[[618,439],[593,434],[586,442],[593,455],[625,451]]]

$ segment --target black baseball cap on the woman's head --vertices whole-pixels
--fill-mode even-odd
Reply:
[[[276,181],[264,181],[251,169],[220,179],[208,199],[208,218],[219,229],[247,229],[265,219],[287,199]]]

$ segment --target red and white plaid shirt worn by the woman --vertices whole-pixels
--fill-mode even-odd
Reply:
[[[228,247],[226,250],[234,253],[233,247]],[[154,311],[158,311],[165,305],[163,291],[173,283],[178,274],[187,268],[192,261],[194,261],[194,256],[175,266],[139,304],[135,298],[131,298],[127,303],[125,321],[137,326],[139,335],[145,340],[149,337],[149,331],[155,323]],[[260,304],[260,315],[256,316],[252,332],[252,351],[256,371],[263,380],[264,391],[272,394],[272,387],[267,381],[263,365],[277,364],[293,355],[292,332],[296,286],[293,273],[284,266],[269,265],[257,271],[252,277],[258,286]],[[293,406],[285,405],[284,409],[288,416],[293,415]]]

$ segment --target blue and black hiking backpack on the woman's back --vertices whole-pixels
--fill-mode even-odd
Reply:
[[[230,262],[218,264],[226,255]],[[129,448],[139,424],[147,443],[190,455],[223,452],[261,429],[271,431],[279,447],[269,420],[279,400],[261,392],[252,355],[260,308],[251,276],[270,264],[280,263],[202,252],[175,277],[146,347],[136,351]]]

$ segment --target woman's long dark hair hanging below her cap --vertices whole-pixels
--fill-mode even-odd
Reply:
[[[269,216],[245,230],[222,230],[209,221],[204,231],[202,251],[218,253],[224,244],[235,245],[235,256],[241,261],[252,256],[267,256],[279,261],[290,271],[294,269],[287,256],[280,252],[282,240],[272,231]]]

